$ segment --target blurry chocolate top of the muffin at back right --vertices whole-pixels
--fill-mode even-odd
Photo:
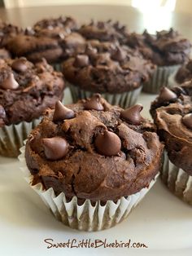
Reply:
[[[191,48],[190,41],[173,29],[155,35],[146,31],[142,35],[133,33],[128,35],[127,43],[159,66],[183,64],[189,59]]]

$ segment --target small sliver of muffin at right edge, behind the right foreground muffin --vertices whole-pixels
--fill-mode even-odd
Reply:
[[[177,72],[172,73],[168,77],[168,86],[179,86],[183,82],[190,81],[192,79],[192,60],[189,60],[186,64],[181,66]]]

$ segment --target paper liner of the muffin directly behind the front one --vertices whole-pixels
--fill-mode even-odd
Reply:
[[[74,103],[78,99],[89,98],[94,95],[95,92],[88,90],[81,90],[78,86],[69,85],[69,88],[72,93],[72,100]],[[142,86],[138,87],[135,90],[130,90],[128,92],[120,93],[120,94],[110,94],[110,93],[100,93],[104,99],[112,105],[120,105],[121,108],[129,108],[133,106],[137,102],[138,95],[140,95],[142,91]]]

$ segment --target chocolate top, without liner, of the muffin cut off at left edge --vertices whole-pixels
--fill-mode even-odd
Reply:
[[[63,76],[42,60],[0,60],[0,127],[32,121],[63,97]]]

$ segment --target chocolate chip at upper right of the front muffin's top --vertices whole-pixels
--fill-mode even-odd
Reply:
[[[142,105],[137,104],[131,108],[124,109],[120,113],[120,117],[122,117],[125,121],[128,121],[132,125],[140,125],[142,122],[142,116],[140,112],[142,111]]]

